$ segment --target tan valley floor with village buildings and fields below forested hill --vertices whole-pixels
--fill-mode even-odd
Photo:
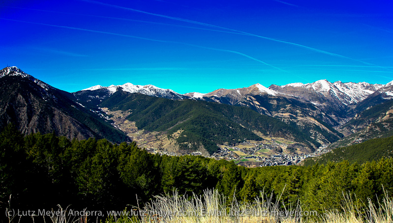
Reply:
[[[308,157],[320,156],[328,150],[326,146],[311,152],[309,149],[300,146],[299,143],[279,138],[264,136],[260,132],[255,132],[263,140],[245,140],[232,145],[220,144],[219,150],[209,154],[203,147],[198,151],[179,151],[176,140],[181,130],[167,137],[160,132],[148,132],[139,130],[135,122],[126,119],[131,114],[129,111],[110,111],[108,108],[100,108],[111,120],[113,126],[123,131],[132,141],[135,141],[140,148],[146,149],[152,154],[165,154],[169,156],[200,155],[216,160],[233,160],[237,164],[246,167],[282,166],[296,165]],[[298,147],[297,147],[298,146]]]

